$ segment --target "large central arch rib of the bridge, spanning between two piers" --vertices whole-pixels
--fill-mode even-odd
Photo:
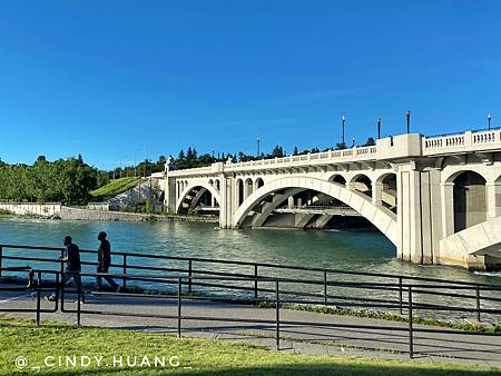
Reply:
[[[253,208],[262,202],[268,195],[291,188],[311,189],[331,196],[352,207],[377,227],[396,247],[399,247],[399,230],[396,216],[385,208],[376,207],[363,194],[350,190],[340,184],[330,182],[318,178],[279,178],[265,184],[255,190],[235,211],[233,226],[239,228]]]

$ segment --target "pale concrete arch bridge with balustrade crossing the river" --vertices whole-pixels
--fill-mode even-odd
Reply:
[[[500,130],[407,133],[370,147],[170,167],[157,176],[169,210],[213,210],[222,228],[323,228],[336,215],[357,215],[403,260],[501,267]]]

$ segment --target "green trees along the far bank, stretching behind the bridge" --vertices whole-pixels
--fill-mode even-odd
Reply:
[[[374,145],[370,137],[363,146]],[[331,149],[345,149],[346,145],[337,144]],[[292,155],[305,155],[320,152],[318,148],[298,151],[294,148]],[[267,158],[282,158],[287,155],[286,150],[276,145],[269,154],[261,152],[247,155],[243,151],[237,154],[218,152],[199,155],[194,147],[186,151],[181,149],[177,158],[170,157],[173,168],[186,169],[210,166],[215,162],[226,162],[232,158],[233,162],[252,161]],[[82,157],[58,159],[48,161],[45,156],[39,156],[32,165],[9,165],[0,159],[0,200],[50,202],[60,201],[67,205],[85,205],[91,200],[90,191],[97,189],[112,179],[122,177],[147,177],[154,172],[164,171],[167,158],[160,156],[157,161],[145,159],[136,166],[117,167],[111,170],[99,170],[87,165]]]

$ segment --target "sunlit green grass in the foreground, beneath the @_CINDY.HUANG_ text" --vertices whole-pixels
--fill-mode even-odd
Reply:
[[[102,365],[88,367],[41,368],[43,375],[494,375],[501,368],[468,364],[440,364],[362,359],[286,354],[261,347],[235,345],[218,340],[181,338],[139,330],[76,327],[0,317],[0,374],[21,373],[14,359],[24,356],[28,366],[40,366],[47,356],[102,356]],[[112,367],[114,356],[178,356],[179,366]],[[124,358],[125,359],[125,358]],[[175,360],[175,359],[173,359]],[[185,368],[190,367],[190,368]],[[30,370],[26,368],[27,370]]]

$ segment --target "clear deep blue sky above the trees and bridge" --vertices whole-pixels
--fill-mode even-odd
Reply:
[[[501,1],[0,1],[0,158],[287,152],[501,123]]]

